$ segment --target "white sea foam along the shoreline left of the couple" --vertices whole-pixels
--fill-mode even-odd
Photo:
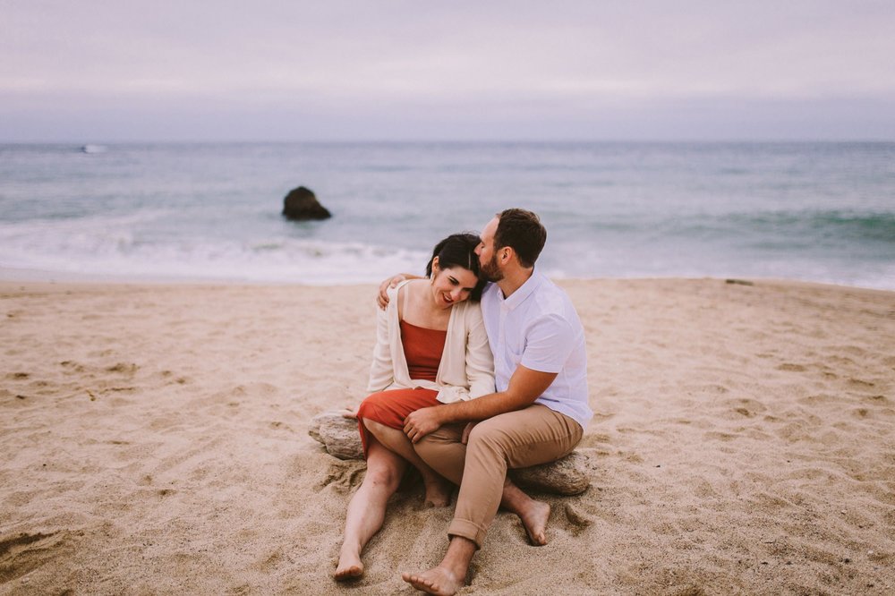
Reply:
[[[108,222],[106,222],[108,223]],[[120,223],[120,221],[118,222]],[[179,239],[141,243],[121,226],[0,226],[0,267],[83,275],[183,280],[302,283],[378,282],[399,271],[422,270],[422,251],[363,243],[286,239],[240,243]]]

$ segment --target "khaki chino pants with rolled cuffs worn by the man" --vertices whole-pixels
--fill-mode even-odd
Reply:
[[[581,440],[581,425],[545,405],[532,404],[475,425],[467,444],[465,424],[448,424],[414,447],[447,480],[460,485],[450,536],[463,536],[481,548],[500,507],[507,468],[546,464],[566,456]]]

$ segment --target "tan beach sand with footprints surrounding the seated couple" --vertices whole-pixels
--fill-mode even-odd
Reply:
[[[895,293],[560,283],[591,486],[500,513],[475,594],[895,592]],[[413,481],[331,580],[364,464],[307,434],[363,396],[374,287],[0,284],[0,593],[392,594],[451,508]]]

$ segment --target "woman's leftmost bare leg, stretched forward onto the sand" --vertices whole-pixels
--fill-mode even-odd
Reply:
[[[367,473],[348,503],[345,533],[339,550],[337,580],[363,574],[361,552],[385,520],[388,498],[395,494],[407,468],[405,460],[383,447],[375,437],[367,449]]]

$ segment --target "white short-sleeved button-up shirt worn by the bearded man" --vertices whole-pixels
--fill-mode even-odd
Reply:
[[[494,354],[494,381],[505,391],[522,364],[557,378],[535,400],[564,413],[582,428],[593,413],[587,401],[587,353],[584,328],[568,295],[535,271],[509,298],[497,284],[482,294],[482,316]]]

